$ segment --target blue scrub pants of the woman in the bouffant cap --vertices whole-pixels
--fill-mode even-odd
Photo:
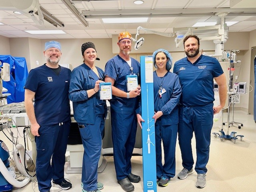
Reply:
[[[178,124],[162,125],[161,120],[155,124],[156,135],[156,178],[165,177],[167,179],[175,176],[175,148],[178,133]],[[164,146],[164,166],[162,165],[162,147]]]

